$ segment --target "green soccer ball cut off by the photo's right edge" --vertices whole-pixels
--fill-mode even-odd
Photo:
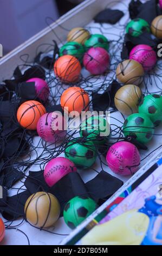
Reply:
[[[139,113],[147,114],[154,126],[158,126],[162,121],[162,96],[151,94],[144,97],[139,105]]]

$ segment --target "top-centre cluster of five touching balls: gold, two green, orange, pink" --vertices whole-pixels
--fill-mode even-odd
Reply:
[[[92,75],[103,74],[109,67],[109,42],[101,34],[90,34],[85,28],[74,28],[60,48],[60,57],[54,65],[56,77],[63,83],[80,79],[82,64]]]

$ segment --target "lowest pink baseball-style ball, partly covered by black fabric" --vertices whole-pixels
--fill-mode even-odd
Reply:
[[[65,157],[56,157],[50,160],[44,169],[44,179],[49,187],[55,185],[63,176],[76,172],[72,161]]]

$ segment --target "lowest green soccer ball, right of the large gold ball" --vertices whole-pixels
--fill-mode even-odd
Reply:
[[[63,218],[69,228],[75,229],[97,208],[95,201],[89,197],[74,197],[66,204],[63,211]]]

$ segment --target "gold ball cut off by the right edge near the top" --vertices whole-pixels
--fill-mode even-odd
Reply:
[[[156,38],[162,39],[162,15],[155,17],[152,21],[151,32]]]

